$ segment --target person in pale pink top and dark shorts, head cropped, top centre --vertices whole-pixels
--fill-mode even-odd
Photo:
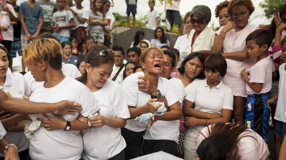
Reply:
[[[166,10],[166,19],[170,23],[170,32],[172,32],[172,26],[175,22],[179,27],[180,35],[183,35],[183,27],[182,27],[182,17],[180,14],[180,0],[172,0],[172,6],[170,3],[165,2],[165,10]]]

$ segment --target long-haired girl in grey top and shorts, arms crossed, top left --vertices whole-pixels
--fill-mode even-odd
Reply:
[[[102,0],[94,0],[93,6],[89,10],[89,35],[95,40],[95,45],[103,45],[104,29],[108,25],[105,19]]]

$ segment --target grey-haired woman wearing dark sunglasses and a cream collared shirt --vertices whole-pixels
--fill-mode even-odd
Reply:
[[[214,43],[214,31],[207,27],[212,13],[205,5],[194,6],[191,15],[193,30],[189,34],[188,49],[190,53],[198,51],[211,51]]]

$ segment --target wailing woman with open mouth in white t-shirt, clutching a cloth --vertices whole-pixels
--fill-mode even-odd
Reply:
[[[123,81],[123,92],[130,112],[130,119],[121,134],[127,146],[126,159],[140,156],[143,143],[143,154],[164,151],[175,154],[179,137],[179,119],[182,111],[178,96],[166,78],[159,77],[164,64],[163,51],[156,48],[145,49],[141,54],[142,72],[126,77]],[[139,122],[136,117],[144,113],[157,112],[160,105],[152,102],[164,102],[167,111],[156,115],[150,121]],[[157,121],[158,120],[158,121]],[[154,123],[154,124],[153,124]],[[148,127],[148,128],[147,128]],[[151,127],[151,128],[150,128]],[[148,131],[145,131],[148,129]],[[162,147],[164,146],[164,147]]]

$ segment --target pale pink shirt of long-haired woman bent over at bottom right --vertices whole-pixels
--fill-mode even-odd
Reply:
[[[208,126],[210,128],[210,132],[212,132],[212,125]],[[249,132],[248,132],[249,131]],[[198,145],[207,137],[209,137],[209,132],[207,127],[205,127],[202,131],[200,131],[200,136],[198,138]],[[247,136],[247,137],[243,137]],[[241,138],[236,146],[238,148],[237,154],[233,154],[231,159],[235,160],[261,160],[267,159],[270,152],[268,151],[267,144],[265,141],[259,136],[259,134],[255,133],[251,129],[247,129],[246,132],[240,134]],[[254,137],[254,138],[253,138]]]

